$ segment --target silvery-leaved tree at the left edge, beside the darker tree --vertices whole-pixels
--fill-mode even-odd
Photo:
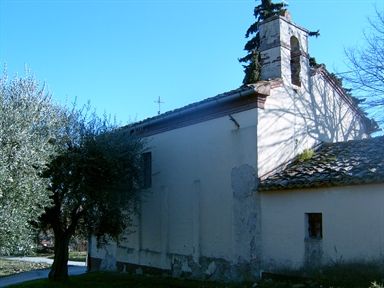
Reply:
[[[39,175],[55,154],[65,111],[26,69],[0,77],[0,254],[28,252],[36,235],[30,226],[50,205],[49,179]]]

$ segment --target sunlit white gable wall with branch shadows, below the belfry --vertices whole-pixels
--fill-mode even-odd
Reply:
[[[272,89],[259,111],[259,177],[320,142],[366,137],[361,118],[322,75],[308,81],[310,91],[290,83]]]

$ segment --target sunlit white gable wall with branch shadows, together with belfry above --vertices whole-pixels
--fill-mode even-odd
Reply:
[[[291,37],[299,44],[300,83],[291,81]],[[366,137],[361,119],[318,73],[310,75],[308,31],[284,17],[260,25],[262,78],[283,79],[258,113],[258,176],[270,172],[320,141]]]

